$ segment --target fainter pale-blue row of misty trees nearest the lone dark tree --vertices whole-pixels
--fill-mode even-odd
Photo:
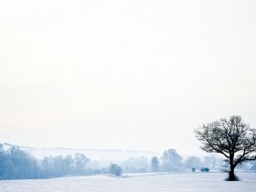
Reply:
[[[160,157],[148,159],[144,156],[129,158],[119,165],[125,173],[143,173],[143,172],[187,172],[193,167],[200,170],[202,167],[210,169],[220,169],[223,162],[217,155],[189,156],[184,159],[175,149],[166,150]]]

